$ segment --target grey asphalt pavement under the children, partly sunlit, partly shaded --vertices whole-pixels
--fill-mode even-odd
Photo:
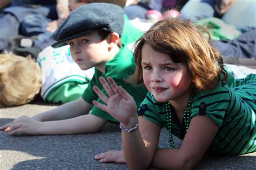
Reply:
[[[0,126],[22,115],[33,116],[55,107],[37,99],[19,107],[1,108]],[[163,129],[159,145],[167,147],[168,139]],[[174,143],[179,147],[181,141],[174,138]],[[129,169],[126,164],[94,159],[98,153],[121,148],[121,131],[112,123],[93,134],[13,137],[0,131],[0,169]],[[232,157],[206,154],[196,169],[256,169],[256,153]]]

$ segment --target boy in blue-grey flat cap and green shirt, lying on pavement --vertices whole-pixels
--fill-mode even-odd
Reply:
[[[120,37],[124,26],[123,9],[109,3],[91,3],[72,11],[52,37],[57,42],[53,47],[70,45],[73,60],[83,69],[95,67],[95,75],[78,100],[58,108],[42,112],[32,118],[22,116],[0,127],[9,134],[75,134],[98,132],[108,122],[118,122],[92,104],[103,103],[93,91],[101,88],[99,77],[112,77],[136,100],[137,106],[146,96],[145,87],[136,87],[125,80],[136,67],[131,49],[122,44]],[[103,79],[103,78],[101,78]],[[90,113],[89,113],[90,112]]]

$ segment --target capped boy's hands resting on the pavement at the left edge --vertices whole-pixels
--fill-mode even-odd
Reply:
[[[22,116],[9,124],[2,126],[0,130],[8,132],[10,135],[15,135],[17,133],[35,135],[38,134],[39,125],[40,122],[37,122],[28,116]]]

